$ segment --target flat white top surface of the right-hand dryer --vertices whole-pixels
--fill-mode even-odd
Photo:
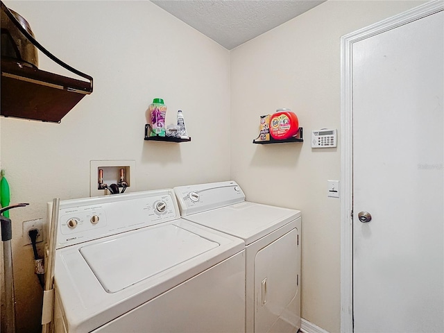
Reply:
[[[248,245],[299,216],[298,210],[245,201],[184,219],[244,239]]]

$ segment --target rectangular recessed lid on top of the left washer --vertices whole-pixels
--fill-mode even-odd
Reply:
[[[218,246],[169,224],[83,246],[80,254],[103,289],[116,293]]]

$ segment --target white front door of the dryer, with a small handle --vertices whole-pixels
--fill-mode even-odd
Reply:
[[[255,257],[255,333],[294,332],[298,325],[298,230]]]

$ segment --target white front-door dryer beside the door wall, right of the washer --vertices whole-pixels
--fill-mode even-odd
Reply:
[[[244,239],[246,332],[300,329],[298,210],[245,201],[236,182],[175,187],[182,217]]]

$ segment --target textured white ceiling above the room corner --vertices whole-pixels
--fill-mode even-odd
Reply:
[[[225,49],[244,44],[325,0],[151,0]]]

